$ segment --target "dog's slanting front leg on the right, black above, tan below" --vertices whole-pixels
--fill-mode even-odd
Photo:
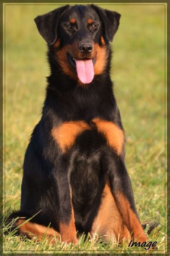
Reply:
[[[147,241],[135,209],[130,177],[121,157],[116,156],[109,161],[109,183],[115,203],[133,239]]]

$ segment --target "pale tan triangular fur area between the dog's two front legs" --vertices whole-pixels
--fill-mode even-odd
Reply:
[[[104,187],[101,206],[92,224],[92,233],[98,233],[107,242],[130,239],[130,233],[116,207],[109,182]]]

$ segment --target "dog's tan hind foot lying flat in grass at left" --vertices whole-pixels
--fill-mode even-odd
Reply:
[[[17,226],[22,224],[25,221],[25,219],[20,219],[17,221]],[[46,234],[49,241],[52,242],[52,244],[55,244],[55,236],[57,239],[60,239],[60,235],[57,231],[55,231],[53,228],[48,228],[36,223],[32,223],[30,221],[26,222],[25,224],[21,225],[19,227],[19,230],[21,233],[28,236],[30,239],[33,237],[37,237],[37,241],[41,241],[43,236]]]

